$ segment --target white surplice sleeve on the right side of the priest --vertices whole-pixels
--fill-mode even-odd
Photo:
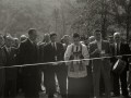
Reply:
[[[84,57],[84,59],[90,59],[90,53],[87,50],[87,47],[85,45],[82,45],[82,56]],[[85,65],[88,65],[88,60],[83,61]]]

